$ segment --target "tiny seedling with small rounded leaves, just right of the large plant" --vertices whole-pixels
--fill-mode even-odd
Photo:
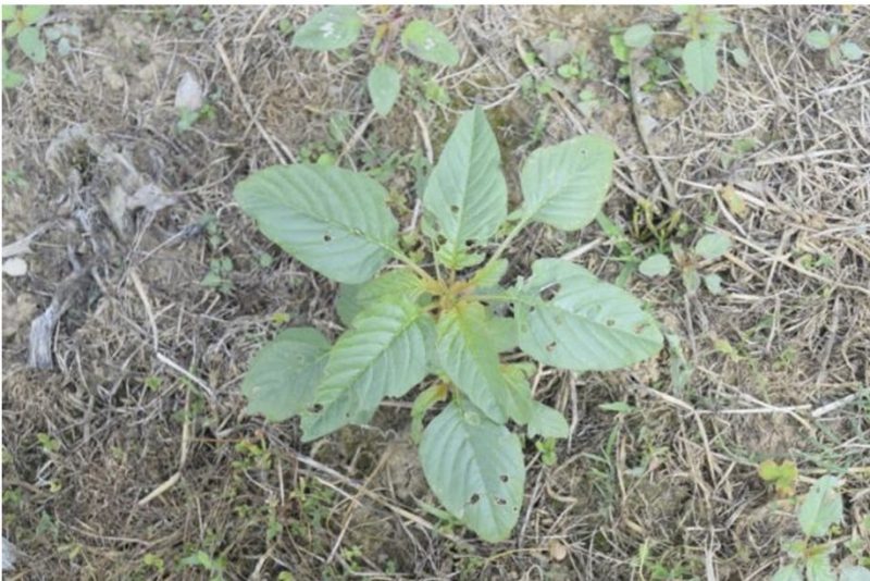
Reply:
[[[707,290],[713,295],[722,293],[722,279],[714,273],[698,274],[698,265],[701,260],[717,260],[731,248],[731,238],[724,234],[705,234],[691,251],[686,251],[678,244],[671,244],[671,252],[674,262],[680,268],[683,277],[683,286],[689,294],[695,294],[700,288],[701,281]],[[667,276],[671,272],[671,261],[667,255],[657,252],[648,256],[637,267],[644,276]]]

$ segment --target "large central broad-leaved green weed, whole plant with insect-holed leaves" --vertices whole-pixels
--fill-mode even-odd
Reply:
[[[544,258],[527,279],[500,284],[508,272],[502,254],[527,224],[576,231],[595,219],[612,164],[612,145],[599,136],[537,149],[521,172],[524,201],[508,214],[495,134],[481,109],[469,111],[423,191],[427,245],[402,236],[415,240],[411,248],[400,243],[387,191],[363,174],[294,164],[241,181],[235,198],[263,234],[343,284],[337,307],[348,326],[334,345],[315,329],[297,327],[262,347],[243,383],[248,411],[275,421],[298,415],[310,442],[368,423],[385,397],[425,381],[411,416],[413,431],[422,432],[426,480],[482,539],[506,539],[525,482],[520,437],[506,424],[549,438],[566,437],[568,423],[533,399],[536,366],[505,362],[500,354],[519,346],[540,363],[589,371],[630,366],[662,346],[641,301],[572,262]],[[508,231],[487,259],[486,243]],[[398,264],[385,270],[391,260]],[[442,401],[422,429],[426,411]],[[547,456],[548,445],[542,448]]]

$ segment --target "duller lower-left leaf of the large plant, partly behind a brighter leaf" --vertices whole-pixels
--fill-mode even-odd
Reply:
[[[301,413],[312,403],[330,342],[309,326],[288,329],[263,345],[241,383],[248,413],[270,421]]]

